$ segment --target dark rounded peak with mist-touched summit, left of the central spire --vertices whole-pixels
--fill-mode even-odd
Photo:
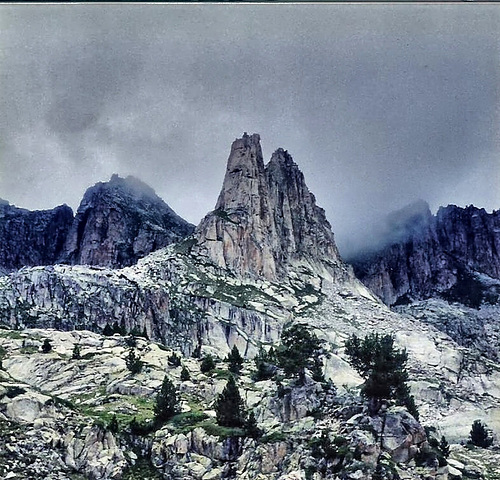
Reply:
[[[132,265],[193,228],[141,181],[113,175],[85,192],[61,260],[111,268]]]

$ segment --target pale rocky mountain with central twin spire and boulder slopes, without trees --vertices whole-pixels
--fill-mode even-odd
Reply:
[[[258,135],[244,135],[215,210],[192,236],[121,269],[39,266],[0,277],[0,472],[42,478],[25,461],[35,452],[53,467],[41,475],[54,479],[499,479],[497,451],[460,445],[475,419],[500,433],[498,361],[426,315],[391,311],[358,281],[288,153],[264,166]],[[301,385],[283,369],[257,379],[253,357],[297,323],[324,342],[326,381],[307,372]],[[121,335],[103,336],[110,328]],[[345,341],[369,332],[406,348],[419,421],[391,402],[366,409]],[[216,417],[234,346],[260,438]],[[131,351],[139,373],[127,367]],[[202,371],[208,354],[215,368]],[[164,376],[181,413],[147,430]],[[430,460],[429,428],[453,443],[448,465]]]

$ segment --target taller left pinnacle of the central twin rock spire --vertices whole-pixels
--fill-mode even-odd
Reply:
[[[270,239],[275,236],[260,137],[245,134],[231,146],[215,210],[201,221],[196,237],[217,265],[274,279]]]

